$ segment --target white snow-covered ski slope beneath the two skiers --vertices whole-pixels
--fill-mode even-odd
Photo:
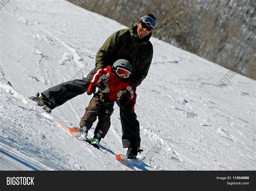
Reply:
[[[136,104],[147,160],[123,165],[114,160],[126,153],[117,105],[97,150],[56,125],[77,126],[91,96],[43,116],[27,97],[87,73],[105,39],[125,26],[65,1],[10,1],[0,14],[1,170],[256,169],[254,80],[237,74],[221,89],[227,69],[152,38]]]

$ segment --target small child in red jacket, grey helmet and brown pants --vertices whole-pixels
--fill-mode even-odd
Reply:
[[[132,87],[126,80],[131,72],[131,63],[120,59],[114,62],[113,66],[98,69],[92,76],[87,94],[92,94],[96,87],[99,88],[99,91],[94,94],[88,107],[85,108],[85,114],[79,123],[82,140],[89,140],[93,146],[99,147],[100,140],[105,137],[110,128],[110,116],[113,113],[114,101],[125,95],[135,105],[136,87]],[[91,129],[97,117],[99,121],[94,131],[95,135],[93,139],[88,139],[88,130]]]

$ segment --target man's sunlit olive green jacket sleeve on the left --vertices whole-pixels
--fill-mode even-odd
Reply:
[[[114,32],[106,39],[102,47],[99,48],[96,55],[96,68],[105,68],[106,63],[111,63],[111,56],[117,49],[117,39],[119,38],[119,31]]]

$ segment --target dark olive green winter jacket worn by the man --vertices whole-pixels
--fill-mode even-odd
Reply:
[[[134,24],[130,29],[122,29],[114,32],[106,39],[96,55],[96,68],[105,68],[118,59],[126,59],[132,63],[131,81],[135,87],[145,79],[151,65],[153,57],[153,46],[149,39],[152,33],[138,38],[137,25]]]

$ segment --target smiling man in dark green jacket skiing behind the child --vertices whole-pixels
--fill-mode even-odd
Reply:
[[[156,26],[156,17],[151,13],[142,17],[137,24],[130,29],[114,32],[106,39],[96,55],[96,68],[82,80],[72,80],[51,87],[41,95],[32,97],[38,105],[54,109],[71,98],[85,93],[89,86],[92,75],[100,68],[112,65],[118,59],[129,60],[132,64],[132,75],[129,81],[132,86],[137,87],[147,76],[153,57],[153,46],[149,39],[152,30]],[[106,89],[108,87],[105,87]],[[127,157],[136,158],[140,147],[139,122],[134,112],[134,102],[130,102],[124,96],[125,90],[117,93],[119,100],[116,101],[120,108],[120,119],[122,124],[123,147],[128,148]]]

